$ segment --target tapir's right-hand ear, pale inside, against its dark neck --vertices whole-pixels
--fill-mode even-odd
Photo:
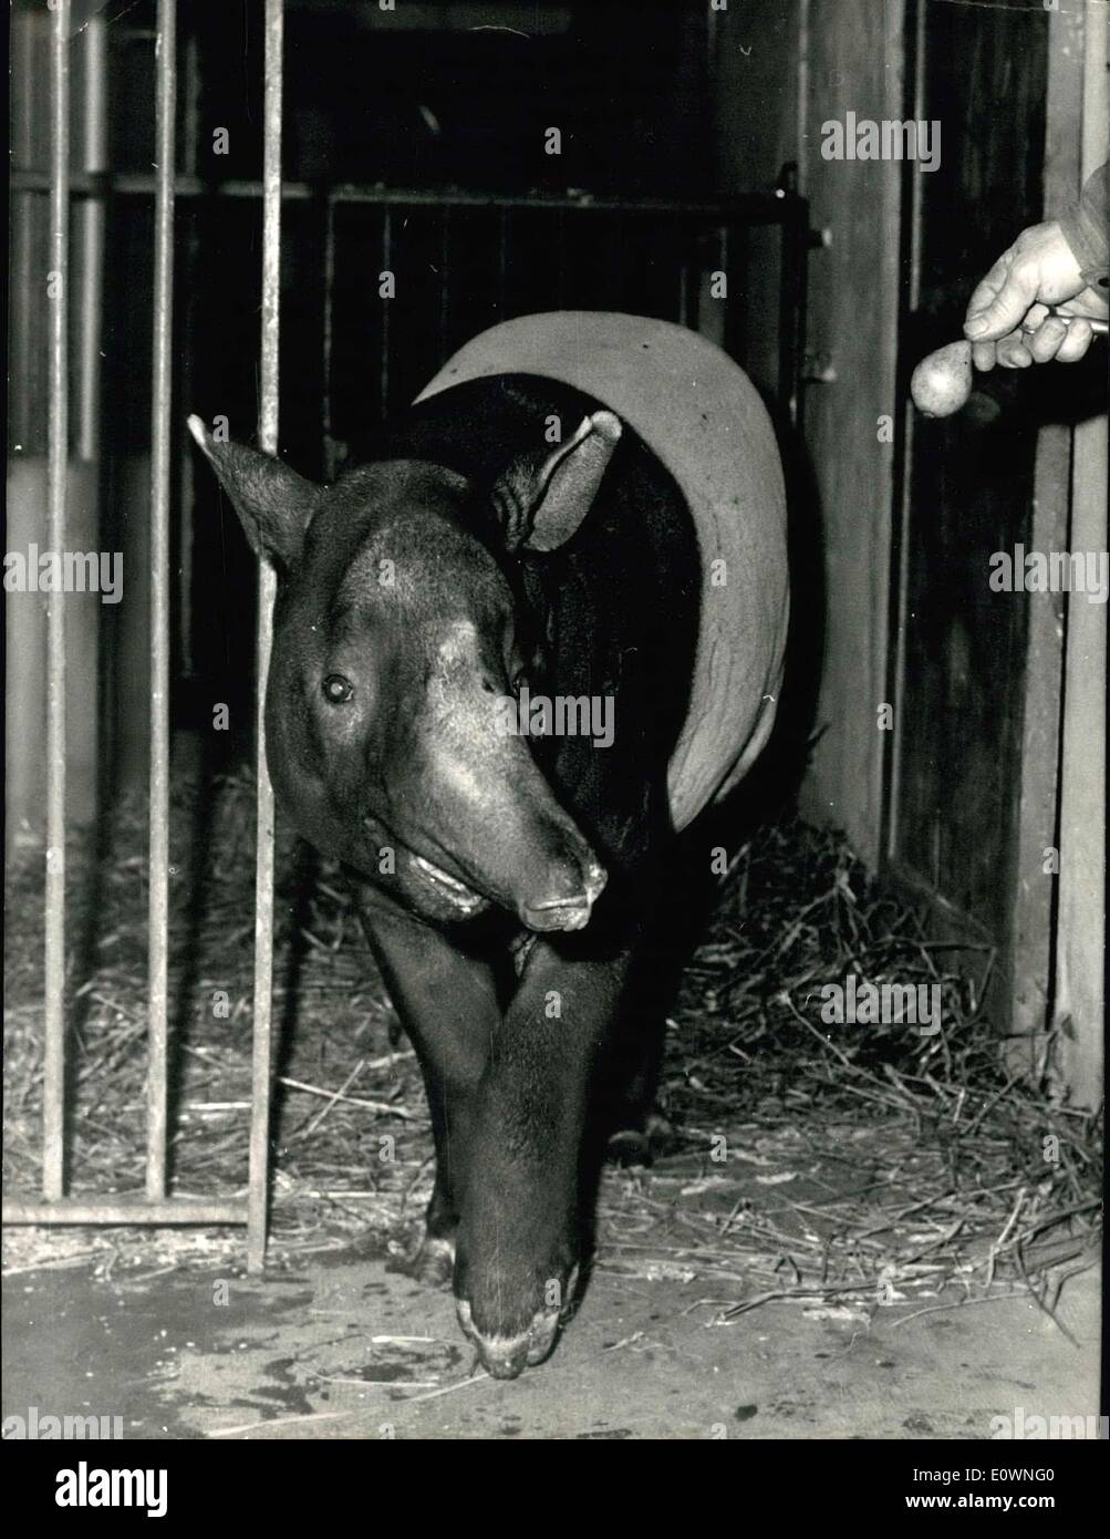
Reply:
[[[494,485],[494,508],[510,551],[555,551],[590,511],[621,437],[612,411],[583,417],[572,439],[550,452],[524,454]]]

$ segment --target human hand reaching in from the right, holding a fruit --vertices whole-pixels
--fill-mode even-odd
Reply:
[[[1105,300],[1084,283],[1059,223],[1049,220],[1024,229],[976,286],[964,336],[976,369],[1075,363],[1095,339],[1088,322],[1105,315]]]

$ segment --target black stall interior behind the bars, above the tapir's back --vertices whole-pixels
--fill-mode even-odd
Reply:
[[[520,6],[486,6],[484,20],[478,11],[398,14],[323,0],[286,8],[283,177],[297,194],[283,206],[280,434],[283,456],[304,474],[334,476],[364,457],[384,414],[497,320],[620,308],[696,325],[700,274],[726,239],[733,289],[721,340],[746,354],[736,282],[746,226],[723,234],[695,212],[712,194],[713,165],[704,18],[630,0],[544,5],[529,9],[526,34],[512,25]],[[100,539],[123,548],[134,573],[143,540],[132,526],[141,517],[134,480],[151,442],[152,197],[143,179],[154,159],[155,6],[115,3],[97,14],[111,23],[111,112],[95,166],[111,186],[98,257]],[[257,0],[183,8],[178,51],[172,725],[204,733],[214,703],[226,703],[231,729],[204,733],[220,768],[251,753],[255,576],[229,505],[191,463],[184,416],[223,417],[232,437],[254,437]],[[45,72],[29,86],[20,111],[31,166],[22,169],[43,169]],[[549,152],[550,129],[558,154]],[[74,139],[78,169],[89,148],[80,122]],[[337,188],[355,194],[337,200]],[[420,202],[383,200],[404,189],[418,189]],[[638,200],[658,206],[636,212]],[[45,240],[45,202],[18,211],[32,243]],[[395,275],[389,297],[383,272]],[[43,339],[28,309],[14,368],[29,388],[11,432],[23,452],[42,452]],[[779,385],[761,383],[772,394]],[[140,606],[129,608],[128,619],[101,617],[101,797],[143,776],[145,691],[135,680],[146,640]]]

